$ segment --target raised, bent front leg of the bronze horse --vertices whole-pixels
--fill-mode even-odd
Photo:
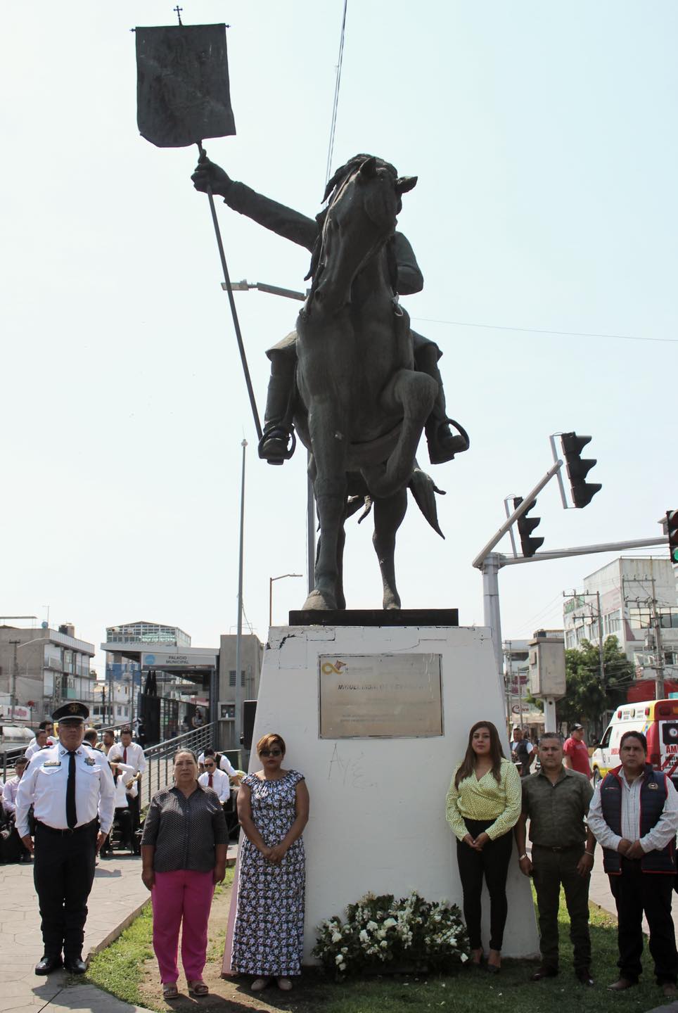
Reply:
[[[402,411],[398,442],[386,464],[363,468],[374,497],[392,495],[409,480],[424,423],[433,407],[438,385],[426,373],[398,370],[386,384],[381,405],[389,414]]]

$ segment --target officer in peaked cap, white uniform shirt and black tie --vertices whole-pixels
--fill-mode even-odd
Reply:
[[[82,975],[87,898],[94,880],[96,852],[110,830],[115,786],[101,753],[82,745],[89,710],[66,703],[52,715],[59,743],[35,754],[16,792],[16,829],[33,852],[33,882],[43,919],[45,954],[36,975],[62,965]],[[28,831],[33,806],[35,842]]]

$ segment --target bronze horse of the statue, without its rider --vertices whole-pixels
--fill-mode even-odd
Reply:
[[[395,532],[437,395],[435,380],[415,370],[409,317],[398,304],[389,259],[401,196],[416,183],[416,176],[398,178],[387,163],[366,158],[336,184],[313,254],[311,291],[297,320],[300,404],[294,417],[312,453],[320,524],[305,609],[345,607],[343,529],[352,492],[374,504],[384,608],[400,605]],[[433,483],[423,472],[418,478],[418,501],[433,502]],[[435,504],[425,513],[439,530]]]

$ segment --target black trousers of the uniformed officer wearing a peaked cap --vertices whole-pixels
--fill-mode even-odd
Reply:
[[[35,826],[33,882],[46,956],[82,956],[87,898],[94,881],[97,821],[62,834]]]

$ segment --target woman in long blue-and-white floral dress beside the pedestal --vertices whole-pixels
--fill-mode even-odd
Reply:
[[[306,869],[301,838],[308,822],[303,774],[284,770],[281,735],[259,738],[263,769],[248,774],[238,791],[240,846],[232,969],[254,975],[252,992],[276,978],[284,992],[301,973]]]

